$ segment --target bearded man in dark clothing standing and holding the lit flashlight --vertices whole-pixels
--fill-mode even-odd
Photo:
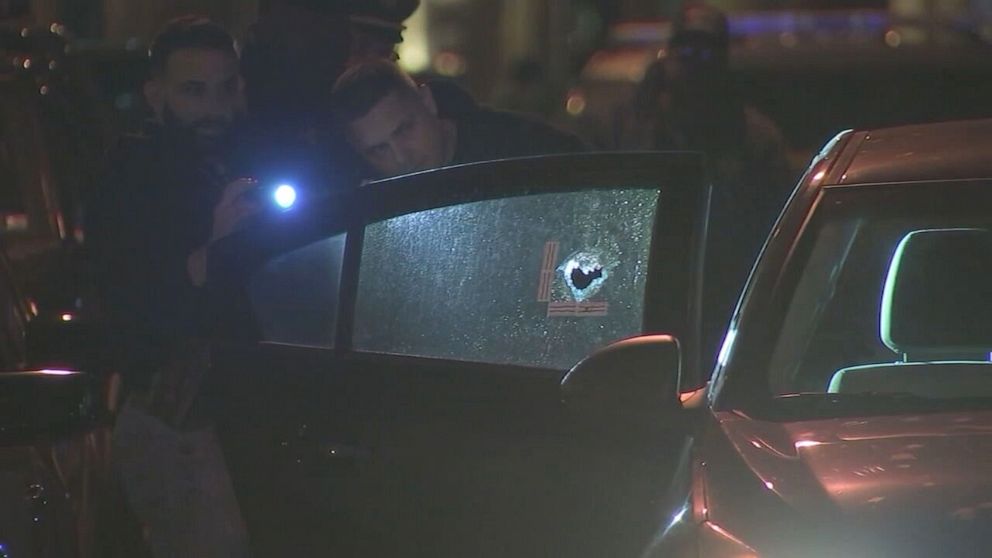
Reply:
[[[151,117],[111,156],[87,204],[86,247],[108,365],[127,400],[115,472],[153,556],[247,555],[247,536],[210,421],[193,402],[209,366],[199,285],[206,246],[255,207],[228,184],[243,105],[232,37],[170,22],[149,52]]]

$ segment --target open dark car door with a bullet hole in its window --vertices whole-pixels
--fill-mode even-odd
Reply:
[[[626,517],[617,492],[578,473],[647,461],[596,455],[559,382],[645,332],[687,340],[694,362],[707,199],[692,154],[496,161],[301,197],[218,246],[205,389],[260,553],[633,539],[606,527]]]

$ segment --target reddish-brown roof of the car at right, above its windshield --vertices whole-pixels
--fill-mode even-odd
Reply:
[[[855,132],[825,186],[992,177],[992,118]]]

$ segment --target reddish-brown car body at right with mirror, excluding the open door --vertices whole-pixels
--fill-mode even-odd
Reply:
[[[642,410],[693,425],[646,555],[990,548],[990,147],[989,120],[831,142],[766,245],[697,409],[680,402],[674,337],[570,372],[573,400],[617,412],[660,375]],[[630,351],[655,365],[629,366]]]

